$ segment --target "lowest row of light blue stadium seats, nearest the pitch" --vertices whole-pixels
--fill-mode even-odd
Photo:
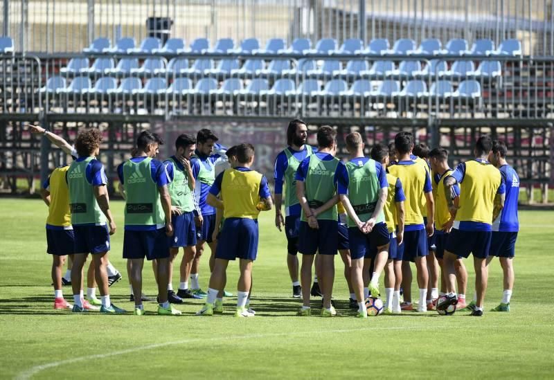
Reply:
[[[341,97],[442,97],[442,98],[481,98],[481,84],[476,80],[463,80],[454,91],[454,85],[447,80],[433,82],[428,91],[423,80],[409,80],[401,89],[401,83],[395,80],[370,81],[356,80],[350,87],[345,80],[334,79],[326,82],[323,89],[319,80],[304,80],[298,87],[294,80],[281,78],[273,87],[262,78],[249,81],[244,87],[244,81],[230,78],[219,82],[214,78],[202,78],[195,86],[189,78],[175,78],[169,87],[165,78],[150,78],[143,87],[139,78],[125,78],[117,84],[116,78],[103,77],[96,80],[94,86],[86,76],[73,78],[69,87],[66,80],[57,76],[50,78],[41,93],[49,94],[91,94],[96,96],[109,95],[181,95],[181,96],[341,96]]]

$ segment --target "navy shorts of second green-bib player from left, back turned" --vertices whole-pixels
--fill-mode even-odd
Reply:
[[[148,231],[125,230],[123,235],[124,259],[165,259],[169,257],[169,239],[166,228]]]

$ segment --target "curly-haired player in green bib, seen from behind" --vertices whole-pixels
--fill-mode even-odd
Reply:
[[[87,129],[80,132],[75,141],[75,150],[77,150],[79,158],[71,163],[66,172],[71,224],[75,237],[75,255],[71,271],[73,312],[86,310],[80,295],[82,266],[91,253],[102,300],[100,312],[124,313],[125,310],[114,306],[109,298],[107,253],[109,236],[116,232],[116,222],[109,209],[104,165],[96,159],[100,153],[100,143],[102,143],[100,130]]]

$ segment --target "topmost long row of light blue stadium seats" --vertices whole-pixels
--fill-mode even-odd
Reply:
[[[97,38],[88,47],[83,49],[83,53],[118,53],[118,54],[184,54],[184,53],[238,53],[242,55],[253,54],[344,54],[344,55],[521,55],[521,42],[517,39],[506,39],[498,46],[494,47],[491,39],[476,39],[471,48],[468,48],[465,39],[450,39],[445,48],[443,48],[440,39],[429,38],[421,42],[419,46],[413,39],[397,39],[391,49],[388,39],[372,39],[367,46],[361,39],[350,38],[344,40],[338,47],[337,40],[332,38],[320,39],[315,48],[312,48],[312,41],[307,38],[294,39],[291,46],[286,46],[284,39],[269,39],[265,48],[260,48],[260,42],[256,38],[243,39],[240,46],[235,47],[235,42],[231,38],[218,39],[215,46],[211,47],[207,38],[197,38],[186,48],[184,39],[170,38],[162,46],[161,40],[156,37],[147,37],[143,39],[141,45],[136,47],[135,39],[125,37],[119,39],[115,46],[111,46],[109,39],[105,37]]]

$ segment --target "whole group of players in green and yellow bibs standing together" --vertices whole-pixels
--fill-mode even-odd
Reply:
[[[72,146],[42,127],[30,125],[30,130],[44,134],[74,159],[56,168],[42,190],[49,207],[46,237],[53,257],[55,309],[124,313],[109,297],[109,286],[121,275],[107,258],[116,224],[104,167],[96,159],[102,135],[98,129],[86,129]],[[370,158],[364,156],[363,137],[352,132],[345,138],[349,156],[343,161],[336,156],[334,129],[318,129],[317,148],[307,145],[307,133],[302,120],[289,123],[288,146],[276,157],[274,175],[275,224],[279,230],[285,228],[292,296],[303,299],[299,316],[312,314],[311,296],[322,297],[321,316],[337,315],[332,301],[337,251],[344,263],[350,307],[360,318],[368,316],[366,298],[381,296],[382,272],[385,314],[414,309],[410,262],[417,269],[418,312],[456,305],[481,316],[488,264],[494,256],[503,269],[504,291],[493,311],[510,310],[519,178],[506,163],[505,143],[481,136],[475,158],[452,170],[447,150],[429,152],[424,144],[414,145],[409,132],[400,132],[388,146],[375,145]],[[256,314],[249,302],[258,253],[257,219],[260,211],[273,208],[273,200],[267,179],[251,169],[253,145],[226,149],[217,141],[209,129],[197,136],[181,134],[175,154],[162,162],[155,159],[162,139],[141,132],[132,158],[117,168],[118,190],[125,199],[123,258],[136,315],[145,313],[143,301],[149,299],[142,291],[145,257],[152,261],[158,286],[158,314],[181,314],[173,304],[183,303],[183,298],[206,298],[197,315],[222,314],[223,299],[231,296],[225,291],[226,269],[229,260],[236,259],[240,278],[235,316]],[[211,248],[211,277],[204,292],[198,269],[206,243]],[[172,266],[180,247],[184,255],[175,293]],[[85,298],[82,269],[89,253],[93,260]],[[474,299],[466,304],[462,259],[470,253],[476,283]],[[72,257],[70,278],[62,277],[66,256]],[[73,305],[64,299],[62,284],[71,284]]]

